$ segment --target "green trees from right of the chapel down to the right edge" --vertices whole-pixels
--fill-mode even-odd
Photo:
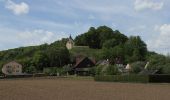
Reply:
[[[147,70],[159,70],[160,74],[170,74],[170,56],[148,51],[146,43],[140,36],[127,37],[107,26],[91,27],[75,38],[75,44],[100,49],[101,52],[96,59],[108,59],[112,65],[130,64],[131,72],[135,74],[142,71],[147,62],[149,62]]]

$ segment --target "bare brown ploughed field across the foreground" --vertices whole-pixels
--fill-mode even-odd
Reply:
[[[170,84],[93,80],[0,80],[0,100],[170,100]]]

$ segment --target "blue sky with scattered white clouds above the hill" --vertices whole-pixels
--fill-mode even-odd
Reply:
[[[0,0],[0,50],[52,43],[106,25],[170,52],[170,0]]]

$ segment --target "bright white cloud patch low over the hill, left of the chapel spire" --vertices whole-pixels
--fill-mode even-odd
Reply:
[[[57,36],[58,35],[58,36]],[[51,43],[55,40],[61,39],[63,34],[54,34],[53,32],[36,29],[33,31],[24,31],[17,34],[19,41],[27,45],[39,45],[43,43]],[[64,36],[65,37],[65,36]]]

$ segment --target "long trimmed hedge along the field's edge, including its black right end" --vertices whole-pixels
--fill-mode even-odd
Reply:
[[[170,75],[98,75],[94,77],[94,80],[106,82],[170,83]]]

